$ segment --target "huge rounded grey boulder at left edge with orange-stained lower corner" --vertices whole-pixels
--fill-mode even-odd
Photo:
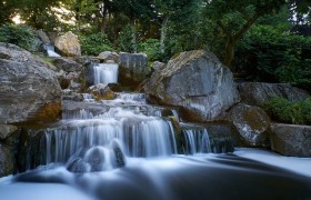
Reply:
[[[13,44],[0,43],[0,123],[58,118],[61,89],[49,64]]]

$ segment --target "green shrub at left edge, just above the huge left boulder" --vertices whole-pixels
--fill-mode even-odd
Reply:
[[[0,41],[17,44],[29,51],[36,50],[36,33],[27,26],[7,23],[0,27]]]

